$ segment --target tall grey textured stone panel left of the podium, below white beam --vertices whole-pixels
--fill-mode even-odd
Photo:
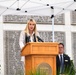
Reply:
[[[5,50],[5,74],[19,75],[23,73],[23,67],[20,48],[19,48],[20,31],[4,31],[4,50]]]

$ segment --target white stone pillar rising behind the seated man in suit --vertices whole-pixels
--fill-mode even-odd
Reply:
[[[72,40],[71,40],[71,18],[70,11],[65,13],[65,34],[66,34],[66,54],[68,54],[71,59],[72,56]]]

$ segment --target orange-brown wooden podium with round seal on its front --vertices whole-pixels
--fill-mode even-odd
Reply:
[[[28,75],[32,69],[47,71],[47,75],[56,75],[56,55],[58,54],[58,43],[52,42],[30,42],[21,51],[25,56],[25,74]],[[50,73],[51,72],[51,73]]]

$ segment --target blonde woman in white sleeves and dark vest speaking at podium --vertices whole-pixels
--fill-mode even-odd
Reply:
[[[34,19],[28,20],[26,28],[20,33],[20,48],[22,49],[28,42],[43,42],[39,36],[39,33],[37,32],[36,21]],[[21,61],[24,62],[23,56],[21,57]]]

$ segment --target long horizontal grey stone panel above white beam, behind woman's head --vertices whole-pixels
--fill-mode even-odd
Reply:
[[[33,18],[36,20],[37,24],[51,24],[52,19],[50,16],[32,16],[32,15],[4,15],[3,16],[3,23],[22,23],[25,24],[27,20]],[[57,25],[64,25],[64,14],[55,16],[54,24]]]

